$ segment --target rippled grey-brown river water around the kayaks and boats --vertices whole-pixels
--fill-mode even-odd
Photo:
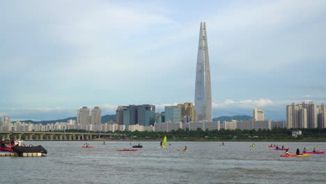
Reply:
[[[142,144],[135,152],[127,141],[91,141],[93,148],[81,148],[84,141],[25,141],[42,145],[45,157],[0,157],[1,183],[326,183],[326,155],[280,158],[269,144],[296,148],[316,147],[321,142],[160,142]],[[176,149],[189,148],[187,152]]]

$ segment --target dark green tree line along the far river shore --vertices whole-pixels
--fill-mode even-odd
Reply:
[[[302,135],[293,137],[293,130],[301,130]],[[65,132],[86,132],[85,130],[65,130]],[[109,139],[93,139],[93,141],[160,141],[164,135],[169,141],[326,141],[326,128],[286,129],[272,128],[272,130],[171,130],[171,132],[148,131],[116,131],[98,132],[111,133]],[[24,139],[24,137],[22,137]]]

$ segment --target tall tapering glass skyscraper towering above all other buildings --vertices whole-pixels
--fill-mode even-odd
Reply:
[[[196,121],[212,121],[210,59],[208,57],[208,43],[205,22],[201,22],[201,29],[199,32],[199,47],[196,66],[196,86],[194,102]]]

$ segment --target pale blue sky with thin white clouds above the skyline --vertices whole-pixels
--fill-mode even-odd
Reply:
[[[206,22],[212,115],[326,104],[326,1],[1,1],[0,117],[194,102]]]

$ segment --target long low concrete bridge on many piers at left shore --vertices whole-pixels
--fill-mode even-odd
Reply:
[[[94,139],[109,139],[112,133],[88,132],[1,132],[2,139],[22,139],[26,141],[91,141]]]

